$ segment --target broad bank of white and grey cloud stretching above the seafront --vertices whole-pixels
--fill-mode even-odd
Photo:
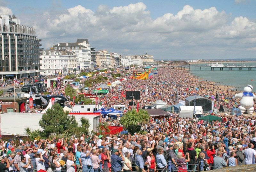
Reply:
[[[22,24],[36,28],[45,49],[52,43],[87,38],[97,50],[130,55],[147,52],[159,59],[203,59],[227,58],[225,53],[246,51],[256,43],[255,22],[242,16],[228,22],[230,16],[215,7],[185,5],[177,14],[166,13],[155,20],[141,2],[113,8],[99,5],[95,12],[77,5],[17,17]]]

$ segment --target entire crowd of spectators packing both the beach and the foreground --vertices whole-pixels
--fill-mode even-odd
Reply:
[[[226,110],[237,107],[239,100],[234,99],[234,95],[239,91],[198,79],[185,70],[159,68],[158,74],[148,80],[124,77],[127,80],[119,82],[108,94],[99,95],[98,103],[104,108],[126,105],[128,110],[132,109],[128,105],[130,100],[122,94],[126,90],[141,92],[140,100],[136,100],[140,106],[156,100],[176,105],[179,100],[198,95],[214,100],[215,115],[222,121],[183,119],[171,113],[169,117],[150,118],[141,127],[146,132],[141,133],[20,139],[18,144],[12,139],[1,140],[0,172],[163,172],[170,168],[187,172],[255,164],[256,118],[217,112],[220,106]],[[94,87],[115,80],[109,78]],[[65,86],[49,91],[65,96]],[[118,119],[102,120],[109,125],[121,125]]]

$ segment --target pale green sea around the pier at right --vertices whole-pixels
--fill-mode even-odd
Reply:
[[[220,62],[218,62],[221,64]],[[190,64],[190,66],[205,66],[212,63],[204,63],[204,64]],[[216,63],[213,63],[216,64]],[[239,62],[239,63],[222,63],[223,65],[247,65],[247,66],[256,66],[256,62]],[[256,91],[256,68],[252,68],[251,71],[248,71],[248,68],[242,68],[241,71],[238,68],[233,68],[232,71],[229,68],[223,68],[223,71],[220,71],[220,68],[215,68],[211,71],[211,67],[191,67],[190,72],[204,80],[216,82],[220,85],[227,85],[231,87],[235,87],[234,90],[243,90],[245,86],[248,84],[252,85],[254,89],[253,92]]]

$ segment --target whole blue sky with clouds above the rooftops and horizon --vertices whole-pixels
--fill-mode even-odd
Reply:
[[[0,0],[42,48],[88,39],[96,51],[154,59],[256,58],[256,0]]]

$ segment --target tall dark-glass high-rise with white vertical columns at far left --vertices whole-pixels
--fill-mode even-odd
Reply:
[[[23,26],[14,15],[0,15],[0,74],[4,77],[33,77],[39,69],[39,47],[33,27]]]

